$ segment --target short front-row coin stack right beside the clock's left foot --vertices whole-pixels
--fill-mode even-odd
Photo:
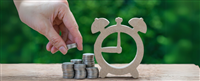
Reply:
[[[99,70],[97,67],[87,67],[87,78],[98,78]]]

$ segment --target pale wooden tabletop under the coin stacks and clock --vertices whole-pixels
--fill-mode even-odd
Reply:
[[[125,64],[113,64],[123,66]],[[98,64],[95,65],[99,67]],[[61,64],[1,64],[1,81],[69,81],[76,79],[63,79]],[[106,78],[83,80],[179,80],[199,81],[200,69],[194,64],[140,64],[138,66],[139,78],[131,75],[112,75]]]

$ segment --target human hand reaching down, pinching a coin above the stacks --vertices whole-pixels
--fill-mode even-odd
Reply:
[[[66,44],[70,43],[77,43],[82,50],[82,36],[66,0],[14,0],[14,3],[21,21],[49,40],[48,51],[66,54]]]

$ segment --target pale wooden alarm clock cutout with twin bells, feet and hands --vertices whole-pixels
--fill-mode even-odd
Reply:
[[[100,31],[100,35],[98,36],[95,44],[94,44],[94,54],[95,58],[101,67],[99,77],[105,78],[105,76],[108,73],[115,74],[115,75],[123,75],[130,73],[133,78],[137,78],[139,76],[137,67],[140,64],[143,53],[144,53],[144,47],[143,42],[138,34],[138,31],[141,31],[143,33],[146,33],[146,24],[144,23],[142,18],[132,18],[129,20],[129,24],[133,26],[133,28],[121,25],[122,19],[116,18],[115,20],[117,22],[117,25],[112,25],[105,29],[105,26],[109,24],[109,21],[105,18],[99,18],[95,19],[95,21],[92,24],[92,33],[96,33]],[[117,47],[103,47],[102,48],[102,42],[103,40],[109,36],[112,33],[118,33],[118,41],[117,41]],[[137,52],[135,58],[126,66],[122,67],[114,67],[111,66],[109,63],[105,61],[105,59],[102,56],[102,52],[107,53],[121,53],[121,41],[120,41],[120,32],[126,33],[130,35],[136,42],[137,46]]]

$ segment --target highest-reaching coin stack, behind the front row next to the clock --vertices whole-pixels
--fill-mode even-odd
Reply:
[[[94,67],[94,54],[93,53],[84,53],[82,60],[83,60],[83,63],[87,67]]]

